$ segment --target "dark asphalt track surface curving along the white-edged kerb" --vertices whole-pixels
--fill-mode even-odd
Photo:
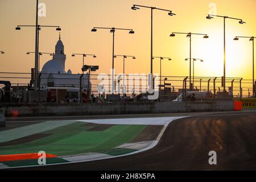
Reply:
[[[208,152],[217,152],[210,166]],[[32,170],[255,170],[256,113],[199,115],[170,123],[151,150],[86,163],[20,168]]]

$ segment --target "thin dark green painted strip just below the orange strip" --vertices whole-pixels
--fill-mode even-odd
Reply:
[[[67,163],[67,160],[61,158],[47,158],[46,164],[56,164],[56,163]],[[38,159],[28,159],[28,160],[15,160],[2,162],[9,167],[20,167],[20,166],[36,166],[38,164]]]

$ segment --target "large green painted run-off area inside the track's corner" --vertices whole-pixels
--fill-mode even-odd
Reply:
[[[104,131],[88,131],[92,126],[84,122],[44,131],[52,134],[48,137],[36,139],[32,142],[14,146],[0,147],[0,155],[24,154],[46,151],[57,156],[84,154],[86,152],[100,152],[109,155],[126,154],[134,150],[117,150],[115,147],[129,143],[145,128],[145,125],[115,125]]]

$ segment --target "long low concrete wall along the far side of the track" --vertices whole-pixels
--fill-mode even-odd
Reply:
[[[6,116],[89,115],[232,111],[234,101],[214,102],[131,102],[104,104],[9,104]]]

